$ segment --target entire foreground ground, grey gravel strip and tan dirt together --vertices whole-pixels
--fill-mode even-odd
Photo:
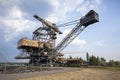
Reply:
[[[0,80],[120,80],[120,71],[91,68],[0,75]]]

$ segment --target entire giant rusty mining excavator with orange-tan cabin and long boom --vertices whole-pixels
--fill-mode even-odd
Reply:
[[[26,37],[20,39],[17,43],[17,49],[20,50],[15,59],[29,59],[30,65],[54,65],[61,63],[59,61],[63,54],[61,52],[67,47],[76,36],[78,36],[88,25],[99,21],[98,13],[90,10],[85,16],[78,20],[56,25],[41,17],[34,15],[34,18],[42,23],[42,26],[33,31],[33,38]],[[69,26],[76,24],[76,26],[68,33],[68,35],[55,46],[57,33],[62,34],[58,29],[59,26]]]

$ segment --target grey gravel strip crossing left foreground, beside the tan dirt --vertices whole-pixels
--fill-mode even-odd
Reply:
[[[41,72],[26,72],[26,73],[14,73],[14,74],[0,74],[0,80],[19,80],[22,78],[45,76],[50,74],[65,73],[77,71],[81,68],[62,68],[61,70],[41,71]]]

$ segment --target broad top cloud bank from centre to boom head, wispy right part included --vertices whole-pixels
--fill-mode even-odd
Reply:
[[[67,19],[70,17],[69,13],[75,11],[85,15],[101,4],[101,0],[49,0],[49,2],[53,6],[53,11],[46,19],[54,23]]]

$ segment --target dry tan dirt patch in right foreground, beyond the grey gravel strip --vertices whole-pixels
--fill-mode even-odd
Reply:
[[[120,72],[105,69],[82,69],[20,80],[120,80]]]

